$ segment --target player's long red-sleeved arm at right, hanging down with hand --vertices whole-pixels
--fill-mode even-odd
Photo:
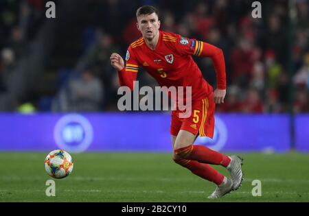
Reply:
[[[203,41],[178,36],[176,50],[183,55],[211,58],[212,62],[214,62],[217,77],[217,88],[214,91],[214,102],[216,104],[224,103],[227,79],[225,73],[225,57],[223,56],[222,49]]]

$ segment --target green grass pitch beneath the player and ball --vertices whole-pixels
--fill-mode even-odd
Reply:
[[[309,202],[309,155],[240,154],[244,182],[221,200],[207,200],[215,185],[176,165],[170,154],[72,154],[70,176],[45,195],[47,153],[0,153],[0,202]],[[222,173],[228,175],[222,167]],[[262,196],[253,197],[252,180]]]

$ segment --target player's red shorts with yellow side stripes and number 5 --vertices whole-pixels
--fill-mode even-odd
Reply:
[[[170,134],[177,136],[179,130],[186,130],[199,136],[214,136],[214,104],[213,94],[207,98],[194,101],[192,103],[192,112],[188,118],[180,118],[179,110],[172,111],[172,123],[170,126]]]

